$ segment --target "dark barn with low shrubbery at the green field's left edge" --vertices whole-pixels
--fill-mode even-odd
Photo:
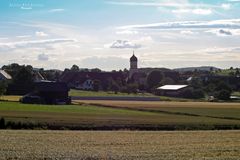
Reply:
[[[25,95],[21,102],[40,104],[70,104],[69,88],[61,82],[37,82],[33,92]]]

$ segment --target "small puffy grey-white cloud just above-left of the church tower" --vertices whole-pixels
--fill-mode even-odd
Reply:
[[[127,41],[127,40],[116,40],[115,42],[113,42],[111,44],[105,45],[105,48],[116,48],[116,49],[132,48],[132,49],[137,49],[137,48],[141,48],[141,45],[140,44],[135,44],[135,43]]]

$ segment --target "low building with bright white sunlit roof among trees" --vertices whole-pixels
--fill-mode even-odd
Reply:
[[[188,85],[164,85],[156,89],[156,94],[161,96],[182,97]]]

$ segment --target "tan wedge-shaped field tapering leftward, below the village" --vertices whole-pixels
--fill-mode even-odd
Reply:
[[[125,108],[131,110],[195,115],[240,120],[240,103],[212,102],[129,102],[129,101],[79,101],[84,104]]]

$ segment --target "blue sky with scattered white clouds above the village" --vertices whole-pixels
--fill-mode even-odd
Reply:
[[[240,0],[0,0],[0,66],[240,67]]]

